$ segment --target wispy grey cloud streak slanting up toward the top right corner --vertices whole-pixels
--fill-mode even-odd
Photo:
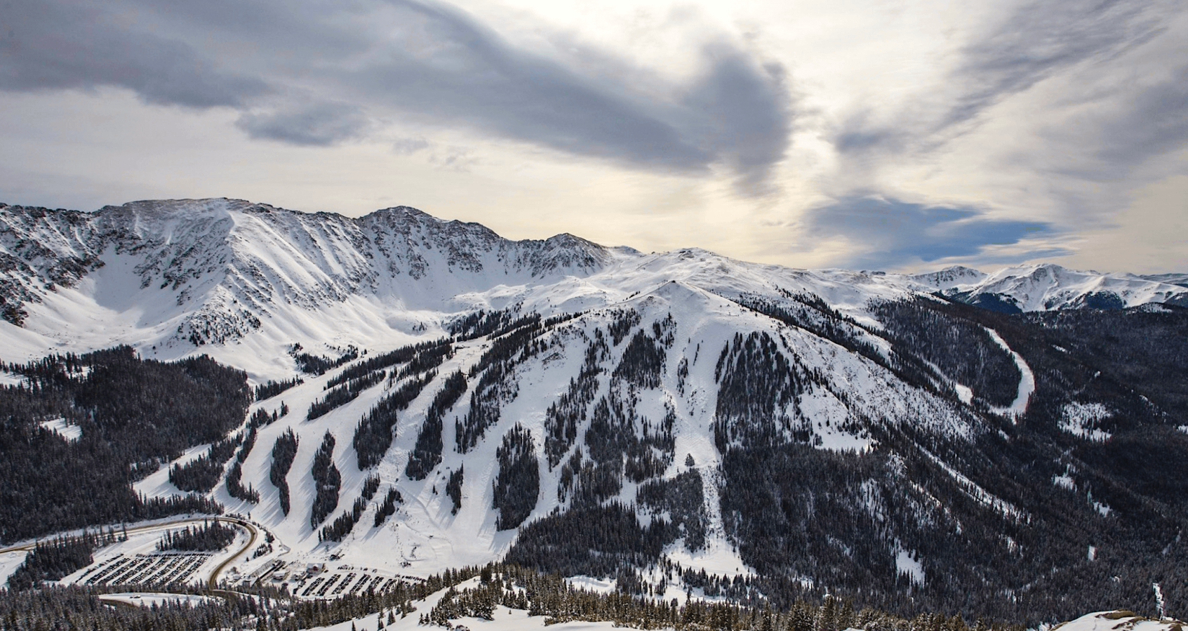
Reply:
[[[1040,0],[1018,7],[985,37],[962,50],[946,82],[954,94],[939,114],[904,113],[893,126],[867,116],[845,121],[834,144],[842,153],[899,153],[943,143],[1003,99],[1073,65],[1105,61],[1162,32],[1161,7],[1133,0]]]

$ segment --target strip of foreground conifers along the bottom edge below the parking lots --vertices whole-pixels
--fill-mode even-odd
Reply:
[[[675,569],[674,569],[675,572]],[[474,581],[478,579],[476,581]],[[473,583],[462,585],[467,581]],[[611,621],[634,629],[672,627],[681,631],[1022,631],[1005,621],[967,620],[918,611],[910,618],[874,608],[857,608],[839,598],[795,601],[788,607],[746,606],[726,601],[665,601],[621,592],[595,593],[580,589],[551,574],[510,564],[449,569],[419,582],[397,582],[377,593],[341,595],[330,600],[297,600],[270,587],[221,591],[208,604],[141,607],[105,607],[99,587],[45,587],[38,591],[0,591],[0,624],[5,631],[34,631],[65,624],[72,629],[140,631],[170,629],[258,629],[298,631],[349,620],[375,619],[391,625],[397,619],[419,616],[424,625],[454,626],[462,617],[492,619],[495,606],[542,617],[544,624],[563,621]],[[446,589],[432,608],[419,601]],[[204,593],[189,589],[189,593]],[[378,624],[378,626],[380,625]]]

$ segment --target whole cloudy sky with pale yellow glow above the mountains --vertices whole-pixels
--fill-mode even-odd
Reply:
[[[0,0],[0,202],[1188,271],[1182,0]]]

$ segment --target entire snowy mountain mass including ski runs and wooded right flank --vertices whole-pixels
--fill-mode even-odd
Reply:
[[[253,385],[318,365],[254,403],[202,491],[290,563],[506,557],[665,598],[1038,620],[1188,589],[1188,289],[1163,280],[794,270],[403,207],[4,207],[0,359],[126,343]],[[135,488],[182,494],[171,467],[214,453]]]

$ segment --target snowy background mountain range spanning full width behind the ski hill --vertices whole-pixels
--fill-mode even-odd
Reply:
[[[151,356],[195,347],[260,378],[292,342],[403,343],[476,309],[522,304],[545,316],[606,307],[677,280],[737,297],[821,296],[862,318],[872,299],[939,292],[1006,311],[1188,304],[1167,278],[1056,265],[985,275],[792,270],[701,250],[644,254],[570,234],[511,241],[478,223],[398,207],[349,219],[241,200],[165,200],[96,213],[0,204],[6,359],[128,343]],[[247,345],[240,356],[225,345]]]

